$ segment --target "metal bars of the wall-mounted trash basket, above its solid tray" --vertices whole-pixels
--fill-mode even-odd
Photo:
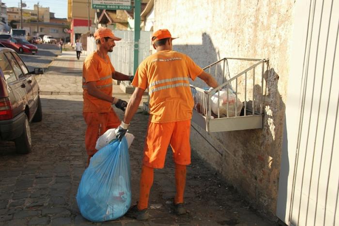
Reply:
[[[234,75],[231,77],[230,74],[230,61],[235,60],[236,63],[232,63],[233,67],[238,68],[241,66],[245,66],[247,69],[243,70],[242,72]],[[255,61],[255,63],[251,63],[251,65],[248,65],[248,62]],[[246,63],[244,63],[246,62]],[[233,94],[235,94],[235,104],[234,106],[234,116],[239,116],[240,112],[238,112],[238,105],[239,103],[243,104],[244,107],[244,116],[247,116],[247,112],[249,112],[252,115],[255,114],[262,114],[263,112],[263,86],[264,86],[264,66],[265,63],[267,63],[268,66],[268,60],[266,59],[244,59],[244,58],[223,58],[221,60],[218,60],[207,67],[203,68],[203,70],[208,70],[209,74],[214,74],[214,76],[217,78],[220,75],[222,75],[222,84],[218,87],[212,89],[212,90],[205,90],[199,87],[195,87],[193,85],[190,85],[192,95],[195,102],[195,110],[197,110],[201,115],[205,116],[207,120],[215,119],[215,118],[229,118],[230,116],[229,112],[229,90],[233,90]],[[258,68],[260,70],[261,77],[256,77],[256,71],[258,71]],[[257,70],[256,70],[257,69]],[[268,68],[267,68],[268,69]],[[220,70],[220,71],[219,71]],[[249,74],[251,76],[249,76]],[[252,83],[252,87],[248,86],[248,83]],[[261,90],[260,93],[256,91],[256,85],[261,84]],[[241,88],[239,88],[241,86]],[[252,89],[252,93],[248,92],[249,88]],[[220,115],[220,90],[225,90],[227,92],[227,98],[226,98],[226,115],[224,117],[221,117]],[[244,92],[241,95],[241,99],[243,101],[240,101],[239,99],[239,90],[243,89]],[[255,98],[258,96],[259,98]],[[217,98],[217,112],[212,112],[212,97]],[[248,106],[247,104],[251,103],[251,106]],[[258,109],[259,105],[259,112]]]

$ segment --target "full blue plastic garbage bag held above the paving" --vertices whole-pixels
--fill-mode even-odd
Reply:
[[[84,218],[103,222],[123,216],[131,206],[131,169],[127,140],[114,140],[91,158],[77,190]]]

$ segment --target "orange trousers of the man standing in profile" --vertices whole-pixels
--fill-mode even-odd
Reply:
[[[85,147],[88,155],[95,154],[96,140],[103,135],[108,129],[117,128],[121,121],[113,108],[107,113],[83,112],[87,124],[85,134]]]

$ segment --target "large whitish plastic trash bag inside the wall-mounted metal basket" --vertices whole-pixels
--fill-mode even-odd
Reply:
[[[227,92],[229,93],[229,98],[227,99]],[[211,103],[211,110],[214,114],[218,115],[218,92],[216,92],[211,97],[212,103]],[[241,109],[243,108],[243,103],[236,99],[236,96],[231,89],[223,89],[219,91],[219,113],[220,118],[227,117],[227,103],[229,104],[228,110],[229,110],[229,117],[239,116]],[[235,103],[236,107],[235,107]],[[236,109],[236,115],[235,115],[235,109]]]

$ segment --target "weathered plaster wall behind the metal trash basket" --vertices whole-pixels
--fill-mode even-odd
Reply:
[[[209,135],[193,123],[191,144],[248,201],[271,216],[277,203],[293,9],[294,0],[154,3],[154,30],[167,28],[178,36],[174,49],[201,67],[224,57],[269,59],[263,128]]]

